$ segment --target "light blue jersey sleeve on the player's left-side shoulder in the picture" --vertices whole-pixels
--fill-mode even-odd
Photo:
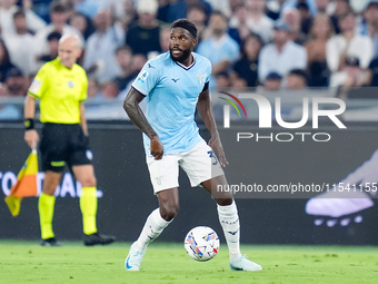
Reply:
[[[143,96],[148,96],[148,94],[156,87],[158,81],[159,71],[157,62],[149,60],[140,70],[131,86]]]

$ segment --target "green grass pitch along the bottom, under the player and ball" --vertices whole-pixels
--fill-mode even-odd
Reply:
[[[148,284],[148,283],[378,283],[378,247],[243,245],[242,253],[261,272],[233,272],[221,246],[211,261],[199,263],[182,244],[152,243],[140,272],[123,267],[127,243],[84,247],[40,247],[38,242],[0,241],[0,283]]]

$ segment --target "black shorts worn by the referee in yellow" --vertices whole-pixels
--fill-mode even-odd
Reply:
[[[66,165],[90,165],[87,150],[87,138],[80,125],[43,125],[40,144],[43,172],[61,173]]]

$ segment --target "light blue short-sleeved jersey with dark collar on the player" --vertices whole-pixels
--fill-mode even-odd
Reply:
[[[202,138],[195,121],[199,94],[211,76],[211,63],[193,53],[195,61],[185,67],[162,53],[147,61],[132,87],[146,96],[147,120],[159,135],[165,155],[186,151]],[[150,154],[150,139],[143,135],[145,150]]]

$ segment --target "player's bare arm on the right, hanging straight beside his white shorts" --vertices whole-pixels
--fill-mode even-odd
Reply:
[[[208,128],[208,130],[211,134],[211,139],[209,140],[209,146],[217,151],[220,165],[226,167],[226,165],[228,165],[228,160],[226,158],[226,154],[225,154],[225,150],[223,150],[223,146],[220,141],[216,120],[213,118],[211,102],[210,102],[209,89],[203,90],[199,95],[198,102],[197,102],[197,109],[198,109],[198,112],[201,116],[206,127]]]

